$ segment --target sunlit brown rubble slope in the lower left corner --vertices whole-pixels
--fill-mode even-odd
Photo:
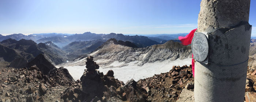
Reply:
[[[47,74],[36,65],[28,69],[0,68],[0,102],[61,101],[60,91],[72,82],[74,79],[65,68],[54,68]]]

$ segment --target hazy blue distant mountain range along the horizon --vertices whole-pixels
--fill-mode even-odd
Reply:
[[[185,34],[156,34],[156,35],[123,35],[123,34],[95,34],[91,32],[86,32],[83,34],[61,34],[61,33],[42,33],[42,34],[30,34],[30,35],[23,35],[23,34],[11,34],[0,36],[0,41],[5,39],[16,39],[17,41],[20,39],[31,39],[37,43],[44,43],[51,41],[55,45],[63,48],[64,46],[70,44],[71,42],[75,41],[91,41],[91,40],[108,40],[110,38],[115,38],[121,41],[130,41],[133,42],[139,48],[147,47],[155,44],[163,44],[168,40],[175,39],[177,36],[183,36]]]

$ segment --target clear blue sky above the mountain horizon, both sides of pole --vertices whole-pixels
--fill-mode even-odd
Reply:
[[[201,0],[1,0],[0,34],[177,34],[197,28]],[[256,0],[249,23],[256,37]]]

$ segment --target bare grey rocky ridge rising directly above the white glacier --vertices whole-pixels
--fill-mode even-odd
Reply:
[[[129,46],[133,46],[132,44]],[[178,42],[167,41],[165,44],[152,45],[146,48],[133,48],[117,44],[115,39],[109,39],[99,46],[90,55],[95,56],[101,67],[107,66],[114,61],[129,63],[139,61],[140,66],[145,63],[154,63],[155,61],[185,59],[191,57],[191,46],[184,46]],[[76,61],[84,57],[78,58]],[[84,60],[85,61],[85,60]],[[83,65],[84,61],[77,63]]]

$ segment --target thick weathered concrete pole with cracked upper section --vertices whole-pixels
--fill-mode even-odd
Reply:
[[[195,102],[244,102],[250,0],[202,0],[200,6],[198,32],[208,32],[209,63],[195,63]]]

